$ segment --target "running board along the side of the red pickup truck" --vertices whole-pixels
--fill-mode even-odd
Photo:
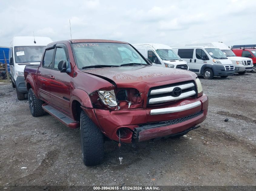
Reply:
[[[75,129],[79,127],[79,122],[74,121],[73,119],[69,118],[68,116],[65,116],[63,113],[59,112],[58,110],[55,110],[53,107],[47,105],[44,103],[42,105],[42,108],[52,116],[54,116],[56,119],[58,119],[60,122],[62,122],[64,125],[68,126],[69,128]]]

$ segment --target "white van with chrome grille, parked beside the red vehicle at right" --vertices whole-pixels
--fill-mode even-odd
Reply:
[[[238,72],[238,74],[251,72],[253,68],[252,59],[236,56],[227,45],[221,42],[186,44],[185,46],[212,46],[221,49],[221,51],[228,57],[228,59],[232,61],[235,66],[235,72]]]

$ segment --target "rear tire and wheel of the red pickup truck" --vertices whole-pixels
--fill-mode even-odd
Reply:
[[[28,103],[29,103],[29,109],[32,116],[38,117],[38,116],[44,115],[45,110],[42,108],[42,104],[44,102],[35,97],[35,94],[32,88],[28,90]]]

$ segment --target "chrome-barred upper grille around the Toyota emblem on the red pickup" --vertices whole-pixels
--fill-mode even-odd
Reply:
[[[181,88],[181,94],[177,97],[172,91],[175,88]],[[175,92],[174,92],[175,93]],[[194,81],[185,81],[175,84],[153,87],[149,89],[147,105],[167,103],[170,101],[181,100],[197,94],[197,88]]]

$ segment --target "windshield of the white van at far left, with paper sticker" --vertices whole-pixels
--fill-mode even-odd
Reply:
[[[14,46],[16,63],[40,62],[45,46]]]

